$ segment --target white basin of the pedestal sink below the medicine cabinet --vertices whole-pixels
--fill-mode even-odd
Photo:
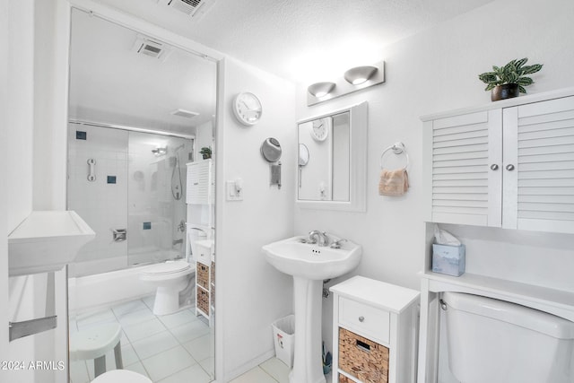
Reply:
[[[341,248],[319,247],[292,237],[263,247],[265,259],[277,270],[309,280],[324,280],[346,274],[361,261],[361,246],[346,241]]]

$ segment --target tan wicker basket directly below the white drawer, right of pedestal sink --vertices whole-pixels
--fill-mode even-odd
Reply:
[[[387,383],[388,349],[339,327],[339,368],[365,383]]]

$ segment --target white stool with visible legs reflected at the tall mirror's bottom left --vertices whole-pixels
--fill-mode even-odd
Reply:
[[[98,377],[106,372],[106,353],[113,348],[116,368],[123,369],[121,337],[122,327],[117,323],[93,326],[74,332],[70,334],[70,359],[72,361],[93,359],[94,376]]]

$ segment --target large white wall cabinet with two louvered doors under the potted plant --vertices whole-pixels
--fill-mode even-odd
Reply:
[[[426,221],[574,232],[574,96],[499,105],[423,118]]]

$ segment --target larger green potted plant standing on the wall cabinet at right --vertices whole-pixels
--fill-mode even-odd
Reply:
[[[534,81],[526,74],[535,74],[542,69],[542,64],[525,65],[528,59],[515,59],[504,66],[492,66],[492,72],[479,74],[478,78],[486,83],[484,91],[492,91],[491,100],[498,101],[517,97],[519,93],[526,93],[525,86]]]

